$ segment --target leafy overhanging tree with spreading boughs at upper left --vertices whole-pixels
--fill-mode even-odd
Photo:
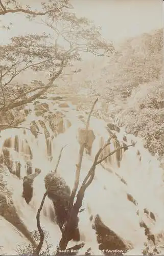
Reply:
[[[8,9],[5,7],[6,11],[1,5],[0,14],[12,12],[12,10],[17,10],[13,12],[19,10],[28,13],[31,10],[30,7],[27,7],[26,11],[22,11],[24,9],[18,8],[19,6],[12,9],[11,4],[15,6],[16,2],[8,1],[8,5],[6,4]],[[72,6],[68,1],[50,0],[48,4],[42,3],[42,7],[44,19],[41,20],[41,24],[52,30],[52,37],[45,33],[18,36],[12,38],[10,44],[0,48],[0,85],[3,99],[1,115],[44,94],[53,86],[54,81],[62,74],[64,68],[80,61],[84,52],[98,56],[110,56],[114,52],[112,44],[102,38],[99,28],[96,28],[88,19],[77,18],[74,13],[70,12],[69,8]],[[31,17],[41,15],[37,11],[35,14],[29,14]],[[46,72],[49,82],[40,84],[39,81],[35,81],[30,88],[24,88],[23,93],[7,100],[5,88],[9,88],[13,79],[28,69],[32,69],[34,72]]]

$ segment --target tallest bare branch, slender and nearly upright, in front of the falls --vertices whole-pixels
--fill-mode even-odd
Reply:
[[[81,163],[82,163],[82,159],[83,159],[83,153],[84,153],[84,148],[85,148],[85,144],[87,143],[87,135],[88,135],[88,127],[89,127],[89,121],[90,121],[90,117],[91,114],[93,112],[93,109],[95,108],[95,105],[98,101],[98,98],[95,100],[95,102],[92,105],[92,108],[90,110],[90,113],[88,115],[88,119],[86,122],[86,128],[85,128],[85,139],[84,139],[84,143],[83,145],[80,145],[80,151],[79,151],[79,162],[78,164],[76,164],[76,178],[75,178],[75,183],[74,183],[74,188],[72,190],[72,194],[69,200],[69,209],[72,208],[73,204],[74,204],[74,198],[79,186],[79,178],[80,178],[80,170],[81,170]]]

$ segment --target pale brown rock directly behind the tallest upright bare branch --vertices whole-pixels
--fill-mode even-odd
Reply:
[[[85,136],[86,136],[85,134],[86,134],[85,128],[78,129],[77,139],[78,139],[78,142],[80,145],[83,145],[85,143]],[[96,137],[95,137],[95,134],[93,133],[93,131],[88,130],[87,142],[85,144],[85,148],[88,151],[89,155],[91,155],[91,148],[92,148],[92,144],[93,144],[93,141],[95,140],[95,138]]]

